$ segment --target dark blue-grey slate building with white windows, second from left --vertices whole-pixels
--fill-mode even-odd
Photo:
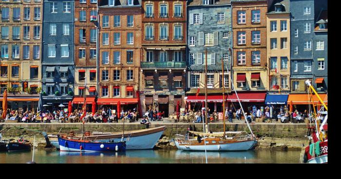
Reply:
[[[43,104],[67,107],[75,78],[73,0],[44,0],[42,41]]]

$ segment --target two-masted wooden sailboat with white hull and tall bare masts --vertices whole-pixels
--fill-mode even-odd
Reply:
[[[207,50],[205,51],[207,59]],[[225,84],[224,84],[224,60],[222,58],[222,70],[223,70],[223,113],[225,112]],[[228,73],[228,69],[227,69]],[[205,64],[205,108],[203,108],[203,115],[205,112],[207,118],[207,60]],[[231,79],[231,78],[230,78]],[[232,81],[232,79],[231,79]],[[233,86],[233,82],[232,82]],[[234,89],[234,88],[233,88]],[[236,92],[236,91],[235,91]],[[237,94],[237,92],[236,92]],[[240,103],[239,97],[237,95],[238,101]],[[240,105],[242,107],[242,105]],[[243,107],[242,107],[243,109]],[[205,111],[204,111],[205,110]],[[243,114],[244,109],[243,109]],[[245,117],[246,119],[246,117]],[[257,144],[257,138],[252,133],[251,127],[249,126],[247,120],[246,124],[251,132],[251,135],[245,132],[226,132],[225,131],[225,115],[223,114],[224,121],[224,132],[209,133],[208,131],[208,119],[206,119],[206,126],[204,127],[204,132],[194,132],[189,131],[189,133],[196,134],[199,137],[189,138],[189,135],[184,138],[174,139],[176,147],[180,150],[188,151],[242,151],[242,150],[252,150]],[[230,136],[230,137],[228,137]],[[202,140],[202,137],[204,140]]]

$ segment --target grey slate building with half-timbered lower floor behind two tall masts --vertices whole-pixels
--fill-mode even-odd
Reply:
[[[226,92],[231,88],[229,82],[232,47],[230,0],[189,0],[187,11],[187,88],[190,89],[187,92],[188,108],[194,110],[200,108],[205,99],[207,77],[208,108],[211,112],[213,110],[222,112],[223,85]],[[205,75],[206,56],[207,75]],[[222,60],[225,69],[224,82]],[[197,98],[198,89],[200,90]],[[212,95],[221,95],[221,97],[211,99]]]

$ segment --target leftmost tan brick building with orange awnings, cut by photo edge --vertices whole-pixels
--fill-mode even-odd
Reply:
[[[0,6],[0,93],[9,92],[8,108],[36,110],[37,88],[41,87],[42,0],[1,0]]]

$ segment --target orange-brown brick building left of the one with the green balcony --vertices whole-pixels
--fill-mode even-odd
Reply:
[[[97,104],[136,108],[141,58],[141,0],[99,1],[99,94]]]

